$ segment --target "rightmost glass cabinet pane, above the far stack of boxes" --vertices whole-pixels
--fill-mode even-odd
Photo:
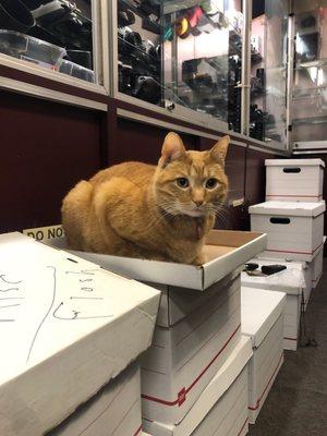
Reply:
[[[327,5],[326,1],[294,2],[295,62],[293,141],[327,137]]]

